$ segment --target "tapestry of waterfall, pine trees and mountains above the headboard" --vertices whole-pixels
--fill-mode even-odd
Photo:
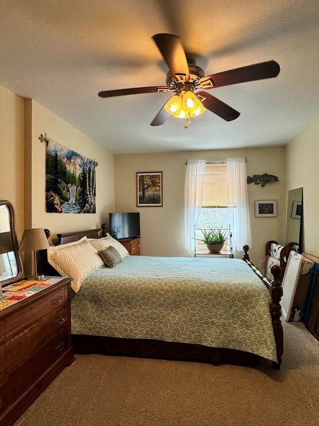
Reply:
[[[45,204],[48,213],[96,213],[95,160],[48,139]]]

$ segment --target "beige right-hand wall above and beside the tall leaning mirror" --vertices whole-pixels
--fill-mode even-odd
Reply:
[[[287,190],[304,188],[303,251],[319,256],[319,121],[286,146]]]

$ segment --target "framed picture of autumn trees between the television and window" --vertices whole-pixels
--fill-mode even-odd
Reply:
[[[163,172],[137,172],[137,207],[163,206]]]

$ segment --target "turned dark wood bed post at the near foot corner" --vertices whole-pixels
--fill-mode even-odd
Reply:
[[[274,279],[270,283],[269,292],[270,297],[272,299],[270,305],[270,313],[273,321],[273,329],[276,340],[276,348],[277,348],[277,363],[273,361],[273,368],[279,370],[282,355],[284,352],[284,333],[283,326],[281,324],[281,305],[280,300],[283,296],[283,288],[281,286],[281,282],[279,281],[279,277],[281,275],[281,268],[278,265],[274,265],[271,267],[270,272],[273,274]]]

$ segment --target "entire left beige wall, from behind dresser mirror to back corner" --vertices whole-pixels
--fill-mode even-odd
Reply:
[[[114,156],[31,99],[22,99],[0,86],[0,199],[15,209],[17,237],[26,227],[56,233],[99,228],[114,210]],[[95,214],[45,212],[45,143],[40,133],[89,158],[95,158],[97,195]]]

